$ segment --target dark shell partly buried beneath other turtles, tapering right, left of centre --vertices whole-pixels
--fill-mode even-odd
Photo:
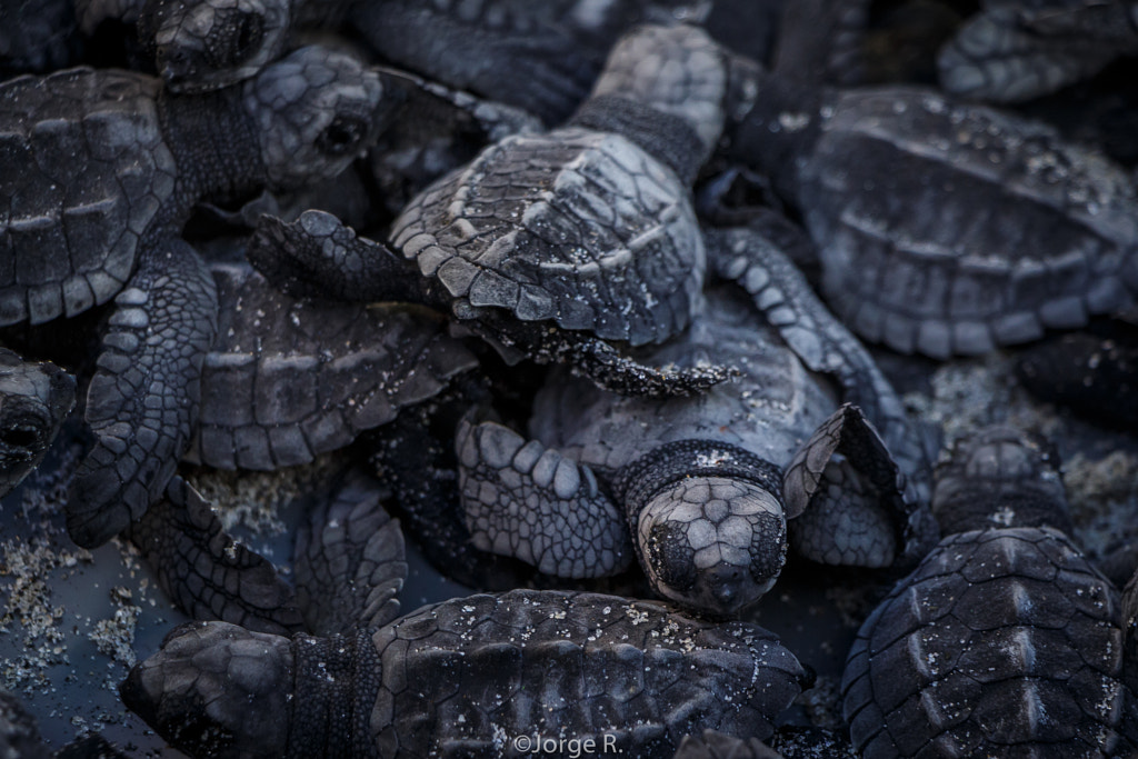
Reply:
[[[221,312],[188,461],[306,463],[391,421],[475,356],[427,308],[292,298],[248,265],[213,266]]]

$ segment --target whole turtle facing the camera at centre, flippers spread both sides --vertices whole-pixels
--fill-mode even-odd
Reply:
[[[687,331],[645,361],[726,363],[740,377],[649,399],[562,374],[534,402],[531,442],[495,422],[460,424],[475,545],[562,577],[619,571],[635,546],[661,596],[734,614],[774,585],[787,519],[801,528],[795,547],[827,563],[912,564],[935,539],[923,448],[865,349],[777,250],[747,230],[709,240],[765,319],[734,284],[712,288]],[[907,494],[861,411],[834,411],[834,378],[881,426]]]

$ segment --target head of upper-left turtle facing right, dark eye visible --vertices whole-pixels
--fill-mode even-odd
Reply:
[[[394,108],[380,75],[356,58],[300,48],[246,82],[272,189],[331,179],[370,148]]]

